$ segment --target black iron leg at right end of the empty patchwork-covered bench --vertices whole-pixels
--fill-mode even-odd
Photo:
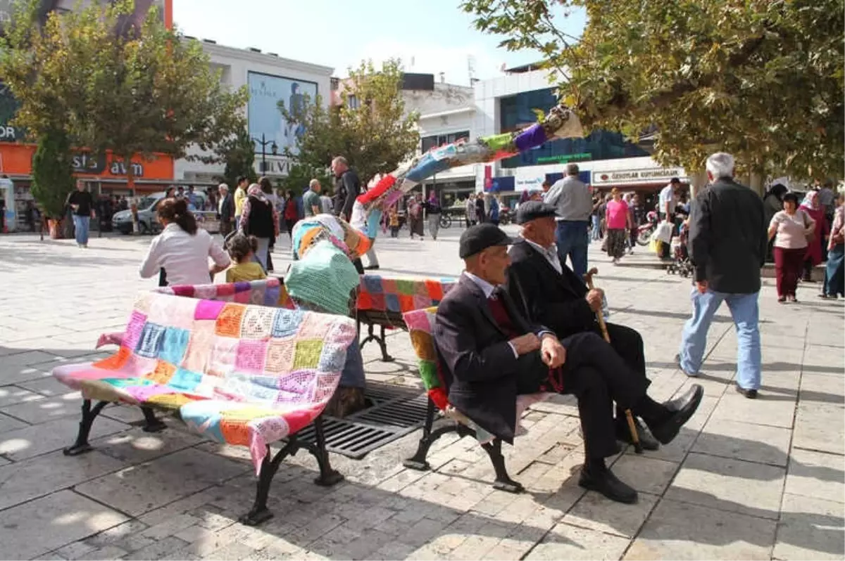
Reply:
[[[294,434],[287,444],[281,450],[272,455],[270,446],[267,446],[267,455],[264,456],[264,461],[261,462],[261,472],[259,472],[259,481],[255,488],[255,502],[253,508],[245,515],[241,515],[237,521],[245,526],[258,526],[273,517],[273,513],[267,508],[267,496],[270,494],[270,483],[273,483],[275,473],[279,471],[281,462],[287,456],[296,456],[300,448],[305,447],[310,451],[319,465],[319,477],[314,480],[314,483],[329,487],[343,481],[343,476],[340,472],[336,472],[331,468],[329,463],[329,452],[325,449],[325,438],[323,434],[323,418],[318,417],[314,420],[314,433],[316,434],[317,442],[314,445],[307,445],[301,443],[296,434]],[[272,459],[271,459],[272,458]]]

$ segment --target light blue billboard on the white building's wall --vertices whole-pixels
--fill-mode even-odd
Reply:
[[[305,132],[302,125],[288,123],[279,111],[283,102],[288,111],[302,111],[306,103],[317,99],[317,84],[295,78],[250,72],[247,76],[249,103],[247,118],[249,136],[255,143],[255,154],[261,154],[261,137],[264,135],[266,154],[275,143],[279,154],[285,149],[296,153],[297,138]]]

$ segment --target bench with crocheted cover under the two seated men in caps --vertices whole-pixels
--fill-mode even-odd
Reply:
[[[472,436],[476,438],[493,463],[496,478],[493,488],[509,493],[521,493],[523,487],[508,475],[507,467],[502,455],[502,441],[477,426],[472,419],[455,409],[449,403],[449,384],[451,375],[441,370],[437,359],[437,348],[434,346],[434,318],[436,307],[423,310],[412,310],[403,314],[414,353],[417,354],[420,378],[428,391],[428,410],[423,425],[423,436],[417,445],[417,452],[403,461],[405,467],[416,470],[428,470],[430,466],[426,460],[428,450],[444,434],[455,433],[461,438]],[[516,435],[526,433],[520,426],[522,413],[533,403],[542,402],[553,396],[552,393],[537,393],[518,396],[516,400]],[[437,418],[435,418],[437,417]]]

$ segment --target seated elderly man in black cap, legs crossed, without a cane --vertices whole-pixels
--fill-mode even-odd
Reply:
[[[501,289],[515,243],[493,224],[461,235],[466,270],[438,306],[434,343],[450,381],[449,401],[482,429],[513,443],[516,396],[539,391],[578,398],[586,461],[579,484],[615,501],[633,503],[636,491],[617,479],[604,459],[618,453],[611,402],[630,407],[662,443],[677,436],[701,402],[701,386],[674,402],[657,403],[608,343],[584,332],[563,340],[532,323]]]

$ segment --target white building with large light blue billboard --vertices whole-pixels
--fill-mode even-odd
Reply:
[[[286,146],[293,146],[299,131],[288,126],[282,118],[278,102],[281,100],[290,107],[302,103],[307,95],[312,102],[319,96],[321,102],[328,106],[330,77],[334,68],[282,58],[258,49],[221,46],[212,40],[202,40],[202,46],[211,59],[211,66],[221,70],[223,84],[232,89],[244,85],[249,88],[246,112],[248,131],[255,142],[256,173],[285,177],[290,162],[281,154]],[[190,154],[199,154],[199,149],[194,148]],[[179,159],[174,168],[174,181],[217,185],[224,168],[224,164],[207,165]]]

